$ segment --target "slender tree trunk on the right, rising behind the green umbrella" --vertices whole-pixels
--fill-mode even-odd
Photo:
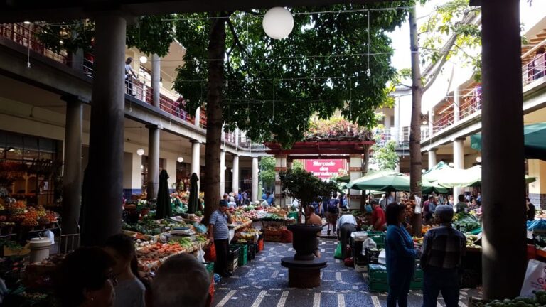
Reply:
[[[410,128],[410,190],[412,195],[421,195],[421,98],[423,87],[421,84],[421,69],[419,68],[419,45],[417,41],[416,8],[410,11],[410,43],[412,50],[412,122]],[[412,217],[414,235],[421,237],[422,214]]]

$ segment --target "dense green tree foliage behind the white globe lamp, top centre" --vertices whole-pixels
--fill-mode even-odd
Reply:
[[[181,15],[176,38],[187,51],[174,88],[189,112],[206,107],[208,63],[222,61],[223,122],[229,130],[247,131],[255,141],[289,146],[304,138],[312,116],[326,119],[337,110],[351,122],[371,127],[374,110],[387,101],[385,84],[395,75],[385,32],[400,26],[407,10],[367,9],[408,4],[294,8],[294,30],[281,41],[264,34],[264,11],[225,14],[226,54],[216,59],[207,57],[211,16]]]

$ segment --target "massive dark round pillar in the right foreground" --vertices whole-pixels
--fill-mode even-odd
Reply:
[[[483,296],[503,299],[527,268],[520,1],[481,4]]]

